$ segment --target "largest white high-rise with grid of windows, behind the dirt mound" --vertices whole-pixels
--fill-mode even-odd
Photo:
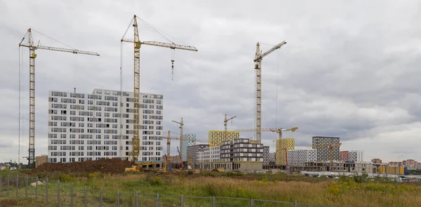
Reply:
[[[49,91],[48,162],[132,154],[133,92],[95,89],[92,94]],[[140,94],[138,161],[162,161],[163,95]]]

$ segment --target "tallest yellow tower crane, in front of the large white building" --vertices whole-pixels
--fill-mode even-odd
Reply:
[[[133,23],[133,25],[132,25]],[[134,39],[125,39],[128,28],[133,26],[134,30]],[[134,77],[133,77],[133,149],[132,149],[132,158],[133,161],[137,161],[140,154],[140,139],[139,139],[139,119],[140,119],[140,46],[149,45],[149,46],[159,46],[163,48],[170,49],[179,49],[185,51],[197,51],[194,46],[183,46],[179,44],[164,43],[159,41],[140,41],[139,39],[139,30],[138,30],[138,20],[136,15],[133,16],[130,25],[128,25],[126,32],[124,32],[123,37],[121,37],[121,42],[129,42],[134,45]],[[173,60],[171,62],[174,62]]]

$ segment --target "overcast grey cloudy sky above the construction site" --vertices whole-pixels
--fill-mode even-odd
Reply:
[[[22,70],[21,156],[27,156],[29,27],[100,57],[37,51],[36,155],[47,152],[48,90],[119,90],[120,39],[136,14],[178,44],[199,52],[142,46],[141,88],[164,95],[164,131],[207,139],[254,128],[255,44],[262,61],[262,126],[290,128],[298,146],[338,136],[341,150],[365,159],[421,161],[421,3],[419,1],[0,1],[0,162],[18,161],[19,63]],[[139,24],[142,41],[166,41]],[[34,32],[42,45],[66,47]],[[128,38],[133,38],[132,30]],[[133,90],[133,45],[124,44],[123,90]],[[19,60],[20,56],[20,60]],[[242,133],[241,137],[253,137]],[[272,147],[275,133],[262,133]],[[174,143],[175,144],[175,143]],[[172,145],[177,146],[177,145]],[[22,162],[26,162],[21,159]]]

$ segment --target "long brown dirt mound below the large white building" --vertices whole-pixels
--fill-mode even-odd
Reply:
[[[101,159],[72,163],[44,163],[31,171],[36,173],[123,173],[125,168],[131,167],[130,161],[121,159]]]

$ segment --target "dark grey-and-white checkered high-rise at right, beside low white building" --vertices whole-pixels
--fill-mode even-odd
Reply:
[[[313,149],[317,149],[317,161],[330,161],[329,145],[339,146],[340,138],[334,137],[313,137]],[[333,146],[332,159],[339,161],[340,147]]]

